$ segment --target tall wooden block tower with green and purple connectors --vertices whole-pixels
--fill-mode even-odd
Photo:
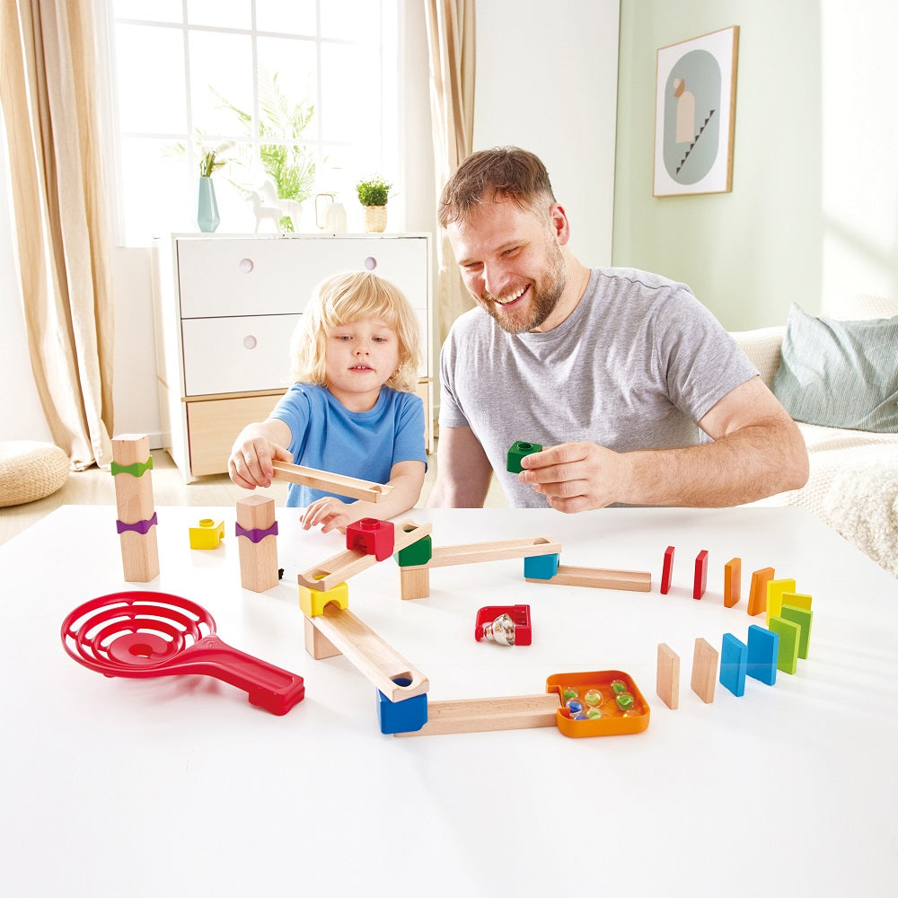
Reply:
[[[114,473],[115,499],[124,577],[132,583],[147,583],[159,575],[149,436],[113,437],[112,461],[117,467],[139,471]]]

